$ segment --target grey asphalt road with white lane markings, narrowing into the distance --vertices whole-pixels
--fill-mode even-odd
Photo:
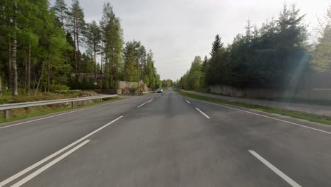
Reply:
[[[331,128],[174,91],[0,126],[0,186],[331,186]]]

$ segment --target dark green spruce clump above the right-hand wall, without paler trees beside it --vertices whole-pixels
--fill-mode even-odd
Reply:
[[[202,79],[209,85],[288,88],[298,78],[294,76],[300,76],[294,74],[296,69],[306,66],[303,18],[295,6],[284,6],[277,21],[264,23],[261,28],[248,21],[245,35],[237,35],[226,48],[216,35],[211,58],[203,63]]]

